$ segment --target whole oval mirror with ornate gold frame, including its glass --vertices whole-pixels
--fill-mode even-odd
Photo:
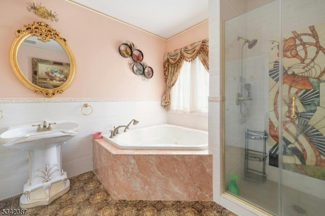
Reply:
[[[10,64],[29,89],[52,97],[62,93],[75,76],[75,60],[67,40],[45,22],[33,22],[16,31]]]

